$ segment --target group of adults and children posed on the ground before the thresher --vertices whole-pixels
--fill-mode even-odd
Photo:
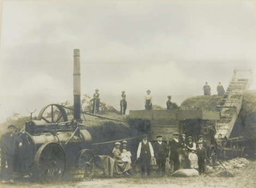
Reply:
[[[162,141],[162,136],[156,137],[157,141],[152,145],[148,141],[148,135],[144,134],[143,139],[139,142],[137,149],[138,164],[141,165],[141,176],[144,177],[147,168],[147,176],[151,175],[151,165],[156,162],[157,176],[164,176],[166,174],[166,161],[169,158],[173,161],[174,172],[180,169],[181,157],[185,156],[190,160],[190,167],[198,170],[199,174],[204,173],[205,161],[207,159],[206,150],[208,148],[203,136],[199,135],[199,140],[193,142],[191,136],[187,137],[182,134],[180,140],[180,134],[174,133],[173,139],[169,142],[169,145]],[[121,146],[120,142],[115,143],[113,149],[113,158],[115,160],[114,172],[117,174],[124,174],[125,176],[131,175],[131,153],[127,149],[127,141],[123,141]]]

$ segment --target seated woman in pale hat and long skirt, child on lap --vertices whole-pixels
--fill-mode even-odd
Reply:
[[[112,151],[113,159],[115,160],[114,172],[117,174],[125,174],[129,176],[130,174],[127,171],[131,169],[131,164],[122,160],[123,157],[121,156],[121,152],[119,150],[120,145],[120,142],[115,142],[115,147]]]

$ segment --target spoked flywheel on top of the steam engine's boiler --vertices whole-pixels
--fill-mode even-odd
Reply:
[[[44,120],[46,123],[62,123],[68,121],[68,116],[61,105],[48,104],[41,109],[37,120]]]

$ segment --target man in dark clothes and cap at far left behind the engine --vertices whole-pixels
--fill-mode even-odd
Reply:
[[[1,148],[1,175],[2,183],[13,183],[13,170],[15,154],[19,146],[22,146],[22,139],[15,134],[16,127],[14,125],[8,126],[8,132],[3,134],[0,139]],[[3,160],[3,162],[2,162]],[[5,168],[5,162],[8,167]],[[3,164],[2,164],[3,163]]]

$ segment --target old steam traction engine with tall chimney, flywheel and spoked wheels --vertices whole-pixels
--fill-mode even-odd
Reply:
[[[27,173],[46,183],[62,179],[65,170],[80,172],[91,178],[95,158],[89,150],[92,137],[81,120],[80,51],[74,50],[74,119],[68,117],[62,106],[50,104],[40,112],[37,121],[27,121],[25,131],[19,133],[22,146],[17,150],[16,174]],[[51,117],[44,117],[46,109]],[[59,111],[54,115],[53,108]]]

